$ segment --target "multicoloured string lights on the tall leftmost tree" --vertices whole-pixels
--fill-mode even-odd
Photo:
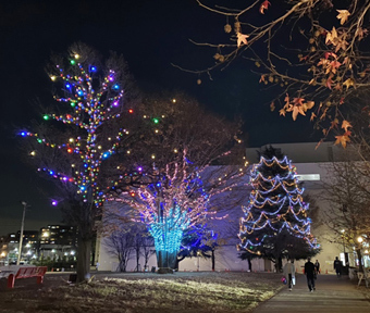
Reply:
[[[108,149],[102,150],[98,145],[97,130],[108,120],[120,117],[120,103],[122,103],[124,91],[121,89],[113,70],[109,70],[108,75],[99,77],[99,75],[91,76],[90,73],[98,73],[95,65],[88,65],[85,70],[84,64],[79,63],[82,55],[73,53],[70,63],[76,68],[76,73],[70,75],[64,72],[60,65],[55,65],[58,75],[49,75],[52,82],[61,80],[64,86],[64,97],[54,97],[58,104],[69,104],[65,114],[45,114],[45,121],[55,120],[64,124],[75,125],[85,130],[86,136],[77,138],[69,138],[66,143],[49,142],[45,137],[39,134],[30,132],[21,132],[22,137],[34,137],[38,143],[45,145],[49,148],[60,149],[62,153],[74,158],[78,155],[81,162],[73,159],[71,166],[74,168],[71,175],[54,171],[52,168],[38,168],[52,176],[53,178],[62,181],[63,184],[73,184],[77,187],[77,192],[84,198],[83,201],[90,201],[92,199],[96,206],[102,205],[104,195],[101,193],[97,184],[99,177],[99,168],[101,161],[110,158],[115,153],[119,141],[123,136],[128,135],[127,129],[120,129],[115,140],[106,138],[106,142],[110,142]],[[101,79],[102,78],[102,79]],[[94,87],[92,87],[94,86]],[[131,109],[132,110],[132,109]],[[62,110],[61,110],[62,111]],[[100,141],[100,138],[99,138]],[[83,145],[82,145],[83,142]],[[36,152],[30,152],[35,156]],[[112,183],[114,185],[114,183]],[[91,196],[91,197],[89,197]]]

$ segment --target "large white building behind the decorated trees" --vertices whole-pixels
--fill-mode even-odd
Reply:
[[[329,162],[340,162],[343,160],[342,148],[334,146],[332,142],[323,142],[317,149],[317,142],[307,143],[276,143],[271,145],[273,148],[281,149],[282,153],[287,155],[292,163],[297,167],[299,180],[304,181],[305,195],[310,195],[313,198],[318,198],[322,192],[321,181],[330,177],[330,173],[325,170],[325,164]],[[257,150],[261,151],[261,148],[248,148],[246,149],[246,156],[249,164],[258,163],[259,156]],[[246,192],[246,200],[249,198],[249,193]],[[320,212],[326,210],[329,203],[318,201]],[[238,251],[236,245],[239,242],[237,238],[239,217],[243,216],[242,208],[235,208],[231,214],[231,226],[227,228],[222,223],[214,226],[214,231],[219,231],[219,238],[224,238],[222,246],[215,250],[215,271],[248,271],[247,261],[242,261],[238,258]],[[320,213],[319,213],[320,216]],[[319,218],[320,220],[320,218]],[[229,234],[224,234],[225,229],[229,229]],[[233,230],[231,230],[233,229]],[[333,261],[335,256],[338,256],[343,262],[345,260],[344,252],[349,252],[349,265],[355,265],[356,255],[354,251],[349,251],[344,245],[333,243],[334,234],[329,229],[325,224],[312,224],[311,233],[318,239],[321,245],[321,252],[314,259],[319,260],[321,264],[321,273],[333,273]],[[99,270],[101,271],[116,271],[118,260],[114,260],[111,255],[107,254],[104,240],[101,236],[97,240],[97,260],[99,262]],[[337,240],[336,240],[337,241]],[[344,251],[346,250],[346,251]],[[368,258],[368,256],[367,256]],[[368,262],[368,261],[367,261]],[[140,261],[141,266],[144,264]],[[149,268],[157,265],[156,254],[149,260]],[[251,262],[252,271],[274,271],[273,264],[263,259],[255,259]],[[304,261],[296,263],[298,271],[301,271]],[[127,271],[134,271],[136,267],[135,260],[128,262]],[[178,265],[180,271],[211,271],[211,260],[201,258],[192,258],[183,260]]]

